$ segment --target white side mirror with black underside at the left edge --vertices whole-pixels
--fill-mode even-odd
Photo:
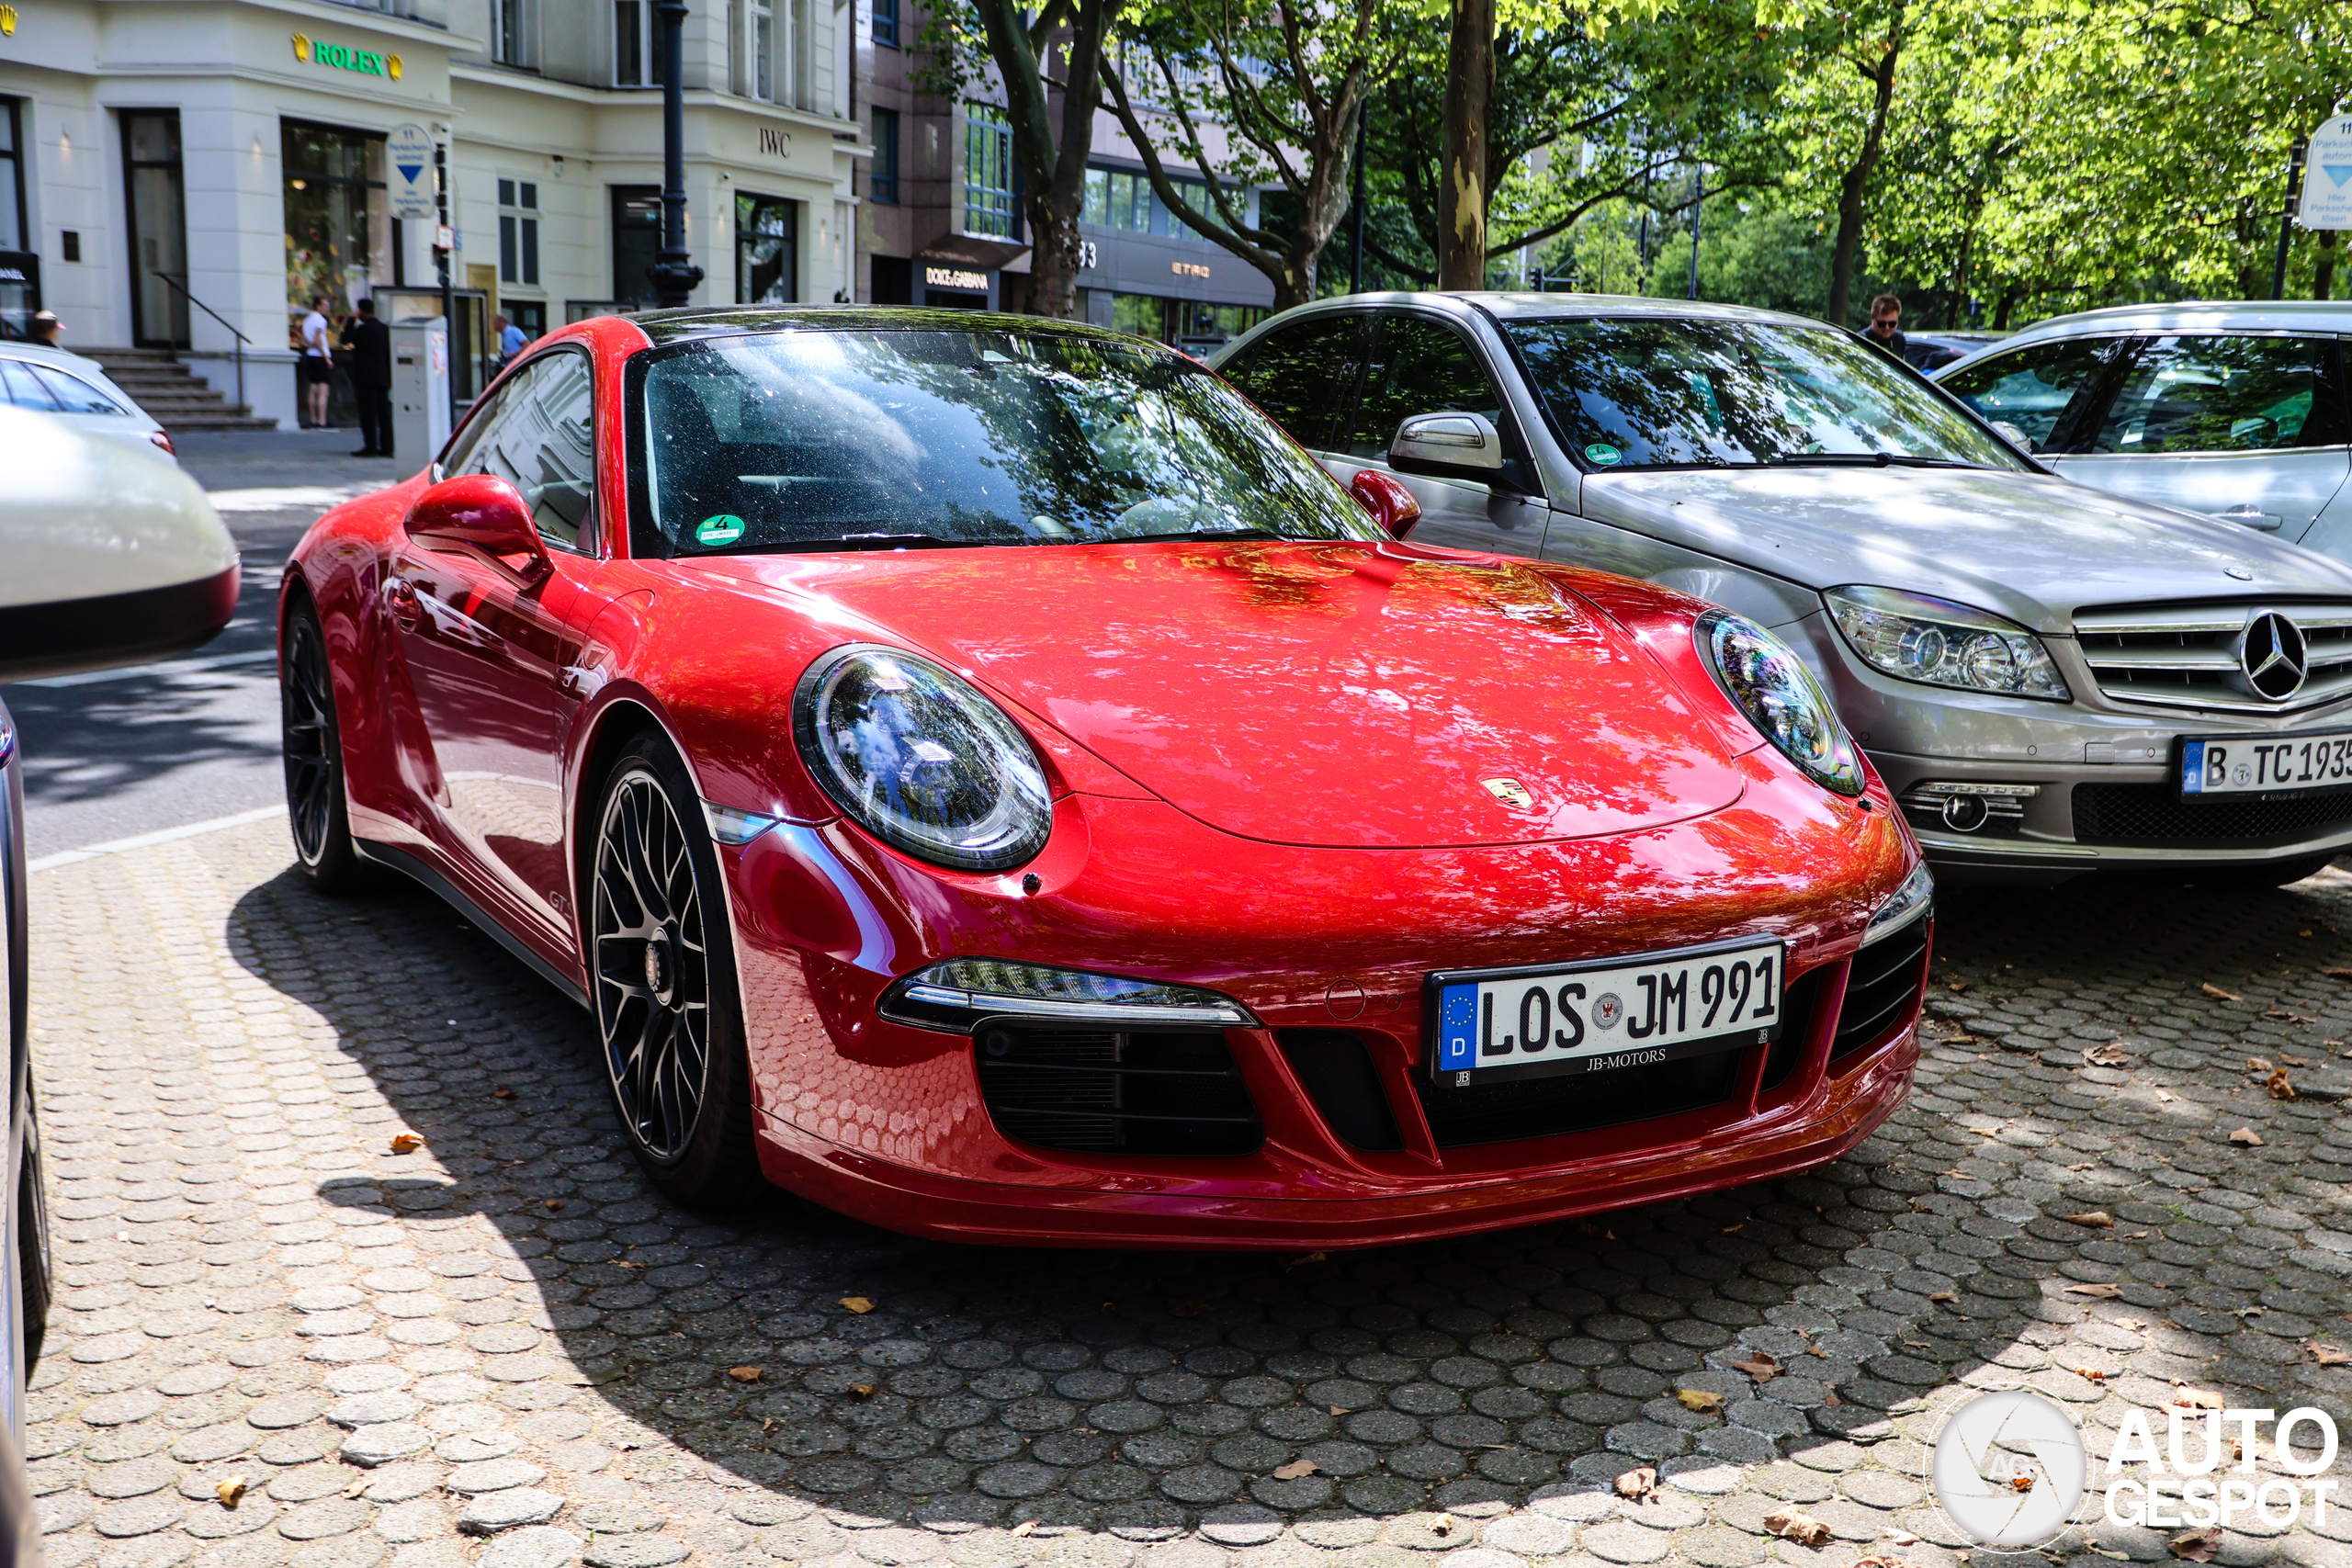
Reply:
[[[0,682],[186,654],[238,614],[238,545],[143,442],[0,407]]]

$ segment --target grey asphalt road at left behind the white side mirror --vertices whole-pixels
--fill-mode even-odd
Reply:
[[[0,686],[24,733],[33,860],[188,827],[282,799],[270,607],[303,529],[402,477],[346,456],[343,433],[186,435],[181,465],[245,555],[238,618],[207,646],[129,670]]]

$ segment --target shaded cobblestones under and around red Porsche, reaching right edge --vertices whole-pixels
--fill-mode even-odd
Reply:
[[[1225,1540],[1550,1495],[1512,1547],[1534,1559],[1656,1465],[1677,1486],[1642,1507],[1677,1516],[1646,1523],[1712,1507],[1738,1526],[1722,1563],[1757,1561],[1785,1500],[1839,1542],[1804,1561],[1905,1530],[1931,1566],[1964,1544],[1919,1486],[1959,1380],[2107,1427],[2176,1380],[2345,1418],[2352,1375],[2305,1342],[2345,1331],[2352,1274],[2345,1063],[2317,1065],[2352,1034],[2352,992],[2319,973],[2352,957],[2328,924],[2352,922],[2347,891],[1955,893],[1919,1091],[1853,1157],[1597,1225],[1329,1258],[955,1248],[783,1197],[682,1213],[623,1152],[586,1016],[433,898],[334,903],[287,872],[238,903],[228,945],[329,1018],[426,1140],[414,1175],[320,1192],[482,1215],[529,1267],[560,1354],[494,1375],[588,1385],[776,1495]],[[393,971],[433,983],[367,978]],[[2114,1037],[2124,1065],[2084,1065]],[[2312,1063],[2307,1091],[2249,1086],[2249,1053]],[[2239,1126],[2263,1145],[2232,1145]],[[2112,1227],[2063,1218],[2091,1211]],[[1766,1382],[1762,1356],[1783,1368]],[[1588,1523],[1583,1549],[1609,1556],[1609,1530],[1663,1540]],[[2147,1530],[2100,1540],[2164,1556]]]

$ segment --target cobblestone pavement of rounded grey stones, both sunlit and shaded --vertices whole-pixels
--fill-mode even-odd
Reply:
[[[2310,1349],[2352,1342],[2343,875],[1955,896],[1919,1093],[1851,1159],[1327,1260],[677,1213],[569,1004],[421,893],[313,896],[278,823],[33,896],[54,1568],[1952,1568],[1919,1476],[1971,1385],[2352,1415]]]

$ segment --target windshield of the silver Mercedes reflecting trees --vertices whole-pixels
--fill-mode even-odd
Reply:
[[[1592,468],[2023,468],[1997,437],[1828,327],[1510,322],[1559,437]]]

